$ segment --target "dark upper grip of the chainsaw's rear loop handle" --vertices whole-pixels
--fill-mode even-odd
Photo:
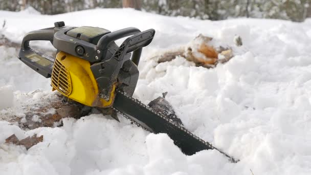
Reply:
[[[51,28],[31,31],[26,34],[23,41],[21,42],[21,49],[23,50],[30,49],[29,41],[47,40],[53,43],[53,38],[54,38],[54,30]]]

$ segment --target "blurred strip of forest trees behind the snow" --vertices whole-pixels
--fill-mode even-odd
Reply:
[[[162,15],[211,20],[255,17],[303,21],[311,17],[311,0],[0,0],[0,10],[20,11],[29,6],[42,14],[130,7]]]

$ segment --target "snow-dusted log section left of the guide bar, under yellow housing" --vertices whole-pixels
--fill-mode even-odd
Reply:
[[[37,127],[55,127],[61,125],[65,117],[81,118],[91,112],[92,108],[55,93],[53,97],[42,97],[37,104],[24,104],[24,114],[0,115],[0,120],[8,121],[23,129]],[[15,111],[7,108],[8,111]]]

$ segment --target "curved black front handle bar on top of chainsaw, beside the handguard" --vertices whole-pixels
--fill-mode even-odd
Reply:
[[[112,33],[108,33],[99,39],[99,41],[97,43],[97,47],[99,49],[106,50],[106,49],[108,49],[108,46],[111,42],[118,40],[118,39],[121,39],[121,38],[124,38],[126,36],[137,34],[139,32],[141,32],[139,29],[137,29],[135,27],[129,27],[129,28],[117,30],[117,31],[112,32]]]

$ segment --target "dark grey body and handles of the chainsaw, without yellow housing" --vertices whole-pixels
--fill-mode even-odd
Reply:
[[[29,32],[21,43],[18,58],[33,70],[50,78],[55,58],[29,46],[32,40],[48,40],[57,52],[63,51],[90,62],[100,96],[105,100],[108,100],[114,85],[125,88],[124,92],[129,95],[134,93],[142,48],[152,41],[155,34],[153,29],[141,32],[130,27],[110,32],[102,28],[68,27],[63,21],[56,22],[54,26]],[[128,38],[118,47],[115,41],[124,37]]]

